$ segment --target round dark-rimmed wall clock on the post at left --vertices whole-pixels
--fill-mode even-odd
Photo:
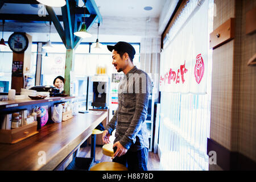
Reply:
[[[23,53],[28,47],[28,39],[24,32],[14,32],[8,39],[10,49],[16,53]]]

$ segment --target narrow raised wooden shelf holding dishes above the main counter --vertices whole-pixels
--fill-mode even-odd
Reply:
[[[61,101],[61,100],[69,100],[71,98],[76,98],[75,96],[69,97],[49,97],[40,100],[31,100],[31,99],[19,99],[13,101],[0,101],[0,109],[6,109],[10,107],[19,107],[25,105],[33,105],[33,104],[41,104],[45,102],[52,102],[52,101]]]

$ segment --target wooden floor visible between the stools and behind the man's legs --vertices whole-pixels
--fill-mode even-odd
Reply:
[[[79,157],[89,158],[90,157],[90,145],[86,147],[81,147],[79,151]],[[102,154],[102,146],[96,146],[95,158],[98,162],[112,162],[111,157]],[[148,171],[158,171],[159,170],[159,157],[154,152],[148,152]]]

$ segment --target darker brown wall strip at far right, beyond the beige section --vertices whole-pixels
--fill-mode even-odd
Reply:
[[[245,15],[255,6],[254,0],[242,1],[241,54],[236,54],[240,56],[238,151],[254,162],[256,161],[256,67],[247,66],[247,62],[256,53],[256,33],[245,34]]]

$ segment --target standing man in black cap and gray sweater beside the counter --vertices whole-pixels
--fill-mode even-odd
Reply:
[[[102,140],[109,143],[116,129],[113,162],[124,164],[129,170],[146,171],[149,142],[145,120],[152,82],[147,73],[133,65],[135,49],[131,44],[118,42],[108,49],[112,51],[115,69],[125,75],[118,86],[118,109]]]

